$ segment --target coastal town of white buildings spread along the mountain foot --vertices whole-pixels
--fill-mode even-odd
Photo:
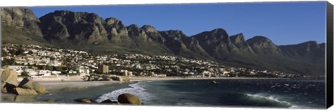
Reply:
[[[90,54],[39,45],[2,45],[2,65],[18,76],[59,77],[116,74],[138,77],[308,77],[286,72],[228,67],[216,61],[143,54]]]

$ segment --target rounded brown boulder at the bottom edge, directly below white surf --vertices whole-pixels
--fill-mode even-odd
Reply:
[[[132,95],[129,93],[123,93],[121,95],[118,96],[118,102],[120,102],[120,104],[138,104],[141,105],[141,100],[139,100],[138,97],[136,97],[136,95]]]

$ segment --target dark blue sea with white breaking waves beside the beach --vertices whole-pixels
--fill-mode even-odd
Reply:
[[[215,81],[215,82],[213,82]],[[113,84],[40,95],[37,100],[73,103],[88,97],[95,102],[117,100],[131,93],[145,105],[178,107],[251,107],[325,109],[325,80],[316,79],[177,79]]]

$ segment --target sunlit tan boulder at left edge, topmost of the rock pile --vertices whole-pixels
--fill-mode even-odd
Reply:
[[[4,68],[5,70],[1,74],[1,82],[6,82],[8,84],[13,84],[14,86],[19,85],[19,81],[17,81],[17,74],[13,70],[9,70],[8,67]]]

